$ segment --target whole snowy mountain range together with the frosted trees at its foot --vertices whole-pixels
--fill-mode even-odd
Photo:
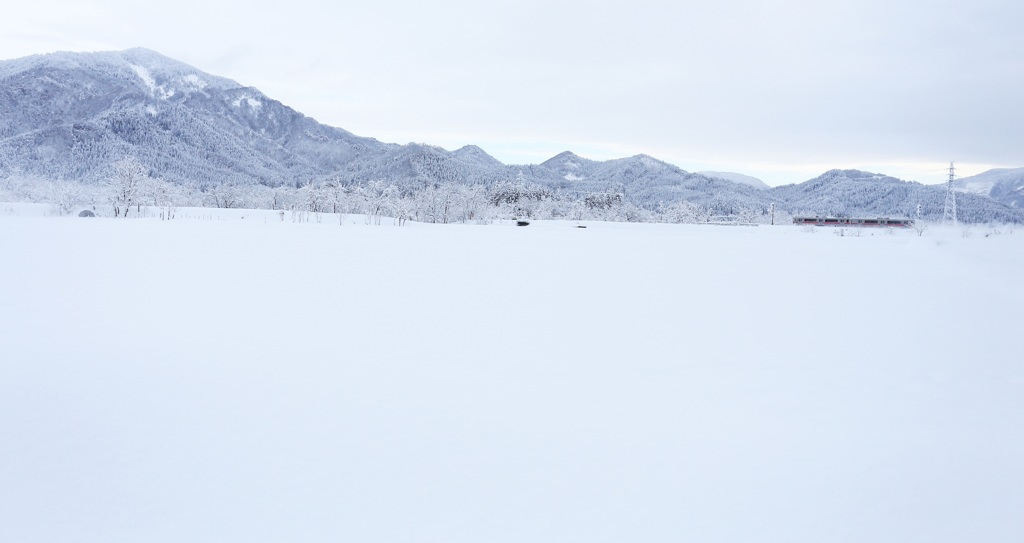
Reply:
[[[771,220],[773,205],[783,220],[787,212],[912,217],[918,205],[935,218],[943,200],[934,187],[854,170],[765,190],[757,179],[687,172],[646,155],[602,162],[565,152],[542,164],[506,165],[475,145],[384,143],[146,49],[0,61],[0,191],[7,198],[60,200],[68,208],[69,195],[91,195],[80,198],[94,205],[110,200],[124,161],[148,187],[138,198],[153,202],[316,211],[327,200],[337,208],[374,193],[389,202],[378,206],[389,214],[443,221],[452,214],[424,211],[422,202],[447,195],[441,207],[449,209],[452,195],[472,195],[466,199],[487,203],[463,206],[470,217],[757,222]],[[991,199],[961,200],[962,220],[1024,221],[1024,212]]]

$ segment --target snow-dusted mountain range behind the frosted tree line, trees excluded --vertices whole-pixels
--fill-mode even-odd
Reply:
[[[328,180],[383,181],[404,192],[502,184],[569,197],[607,193],[654,212],[686,201],[714,214],[763,212],[775,204],[809,214],[911,216],[920,203],[933,217],[943,198],[935,187],[855,170],[768,189],[750,176],[687,172],[646,155],[593,161],[565,152],[542,164],[505,165],[476,145],[449,152],[385,143],[147,49],[0,61],[0,178],[97,182],[126,156],[154,177],[200,189]],[[1020,207],[1021,184],[1013,180],[1019,177],[999,175],[990,193]],[[961,216],[1024,221],[1020,210],[975,195],[964,196]]]

